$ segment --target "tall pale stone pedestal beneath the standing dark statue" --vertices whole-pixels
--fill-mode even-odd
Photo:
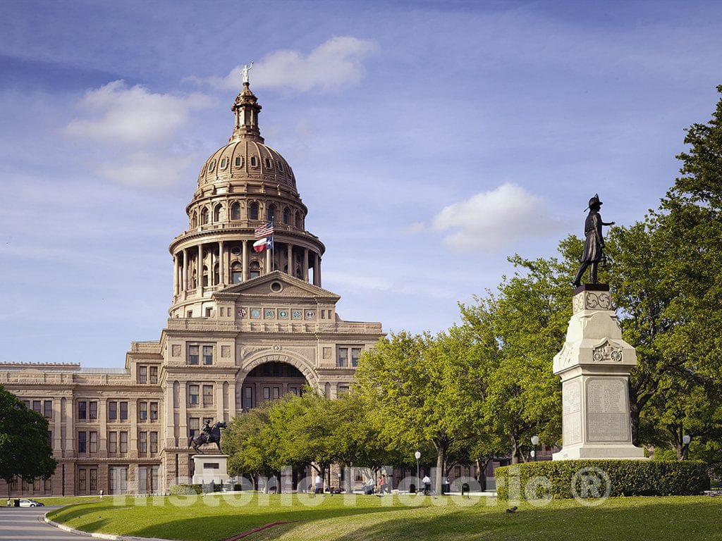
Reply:
[[[612,309],[609,286],[576,289],[567,340],[554,356],[562,377],[562,450],[554,460],[644,459],[632,445],[629,372],[637,353]]]

